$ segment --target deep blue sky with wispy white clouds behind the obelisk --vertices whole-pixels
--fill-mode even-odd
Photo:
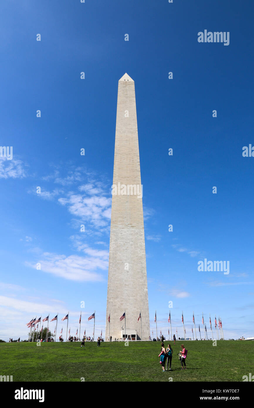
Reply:
[[[0,145],[13,159],[0,157],[0,338],[23,339],[33,316],[68,310],[75,335],[82,301],[82,332],[92,335],[96,310],[95,335],[105,336],[125,72],[135,80],[151,333],[157,309],[167,334],[172,301],[181,337],[182,310],[187,337],[193,310],[196,326],[202,312],[207,328],[209,313],[220,315],[225,338],[254,335],[254,158],[242,156],[254,144],[252,15],[252,2],[236,0],[1,5]],[[205,29],[230,32],[230,44],[199,43]],[[229,261],[230,273],[199,272],[204,258]]]

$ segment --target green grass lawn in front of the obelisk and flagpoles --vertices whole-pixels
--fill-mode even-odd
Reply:
[[[253,371],[253,341],[185,341],[187,370],[173,348],[172,371],[162,372],[159,342],[0,343],[0,375],[13,381],[243,381]],[[168,341],[165,342],[168,345]]]

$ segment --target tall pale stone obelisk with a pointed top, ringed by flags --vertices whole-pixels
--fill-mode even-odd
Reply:
[[[148,340],[150,335],[142,195],[135,85],[125,73],[117,96],[106,340],[109,313],[113,341],[135,334],[137,340],[141,335]],[[126,320],[120,321],[124,312]]]

